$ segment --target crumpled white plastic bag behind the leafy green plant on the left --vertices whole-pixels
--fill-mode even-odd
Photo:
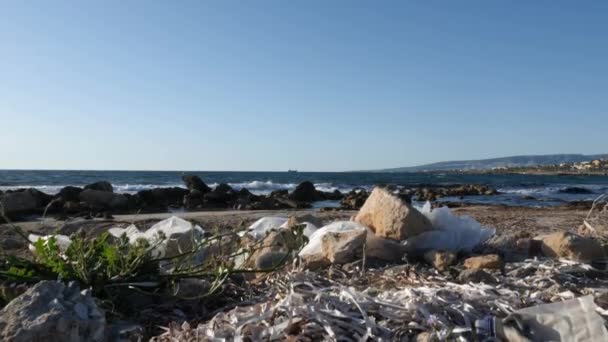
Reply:
[[[135,243],[139,239],[147,240],[150,245],[156,245],[152,251],[152,256],[156,258],[173,257],[191,251],[204,237],[203,228],[177,216],[162,220],[145,232],[141,232],[135,225],[111,228],[108,232],[117,238],[125,234],[129,243]]]

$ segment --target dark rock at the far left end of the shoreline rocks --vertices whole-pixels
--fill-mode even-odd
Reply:
[[[0,197],[4,213],[9,218],[42,212],[52,197],[36,189],[6,192]]]

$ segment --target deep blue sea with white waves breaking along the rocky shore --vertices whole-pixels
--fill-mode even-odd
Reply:
[[[196,174],[209,186],[228,183],[235,189],[247,188],[256,194],[277,189],[293,190],[305,180],[318,190],[353,188],[371,189],[377,184],[414,187],[425,184],[486,184],[501,194],[494,196],[465,196],[443,198],[442,201],[462,201],[478,204],[520,206],[554,206],[572,201],[594,200],[608,193],[608,176],[601,175],[524,175],[524,174],[458,174],[458,173],[381,173],[381,172],[237,172],[237,171],[56,171],[0,170],[0,190],[36,188],[48,194],[62,187],[83,186],[97,181],[109,181],[116,192],[136,193],[157,187],[185,187],[184,174]],[[568,193],[568,188],[585,189],[586,193]]]

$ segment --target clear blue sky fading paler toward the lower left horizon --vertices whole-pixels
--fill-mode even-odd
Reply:
[[[0,168],[608,152],[606,1],[3,1]]]

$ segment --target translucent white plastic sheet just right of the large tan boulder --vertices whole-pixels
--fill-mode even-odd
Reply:
[[[430,202],[420,209],[435,230],[413,236],[405,241],[408,253],[419,254],[429,250],[470,252],[496,233],[470,216],[456,216],[448,207],[431,209]]]

